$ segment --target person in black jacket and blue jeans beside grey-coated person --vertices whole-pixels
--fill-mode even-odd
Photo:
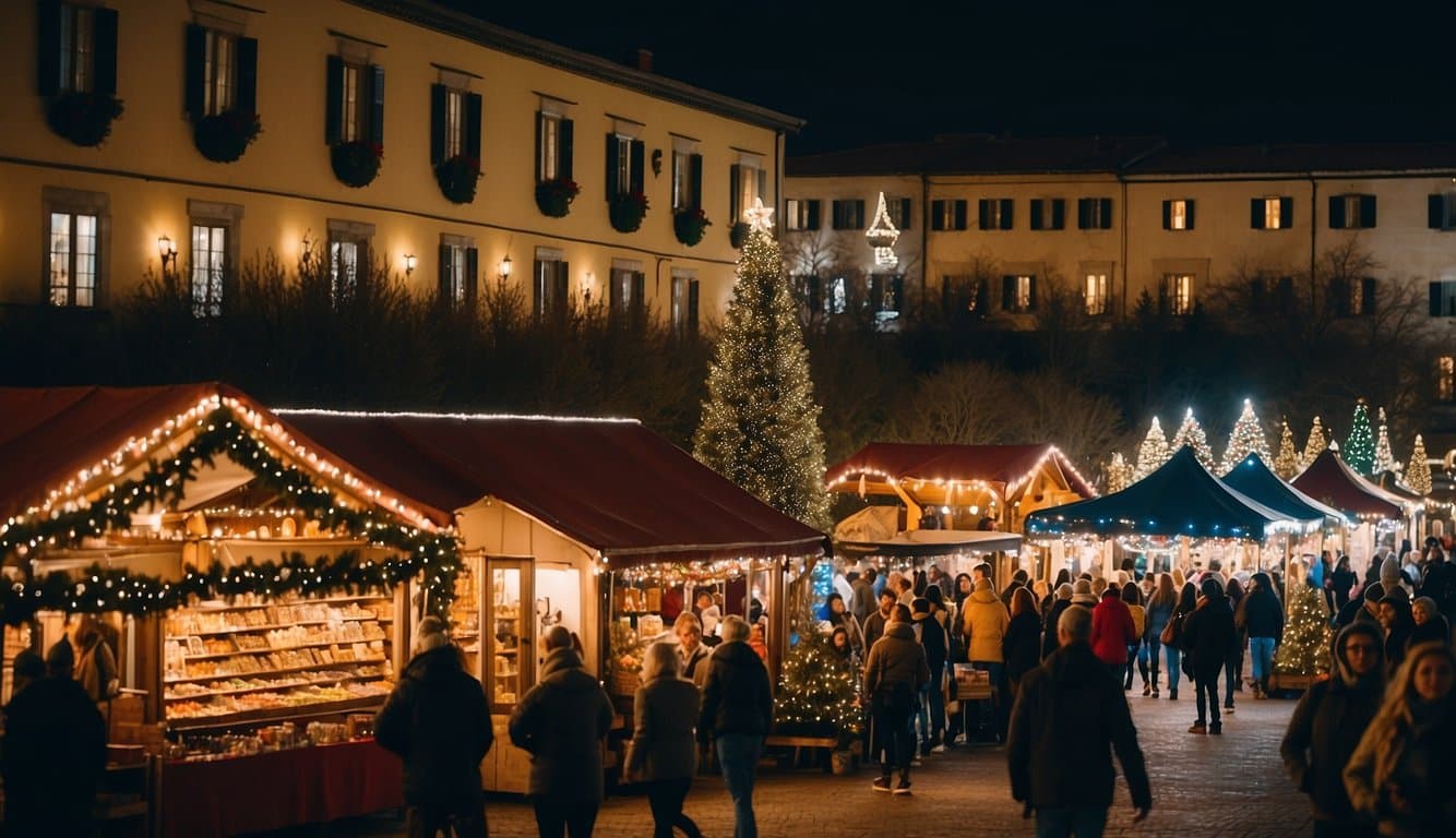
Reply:
[[[734,838],[757,838],[753,771],[773,726],[773,694],[763,658],[748,646],[748,624],[724,618],[724,643],[709,661],[697,741],[713,742],[734,806]]]

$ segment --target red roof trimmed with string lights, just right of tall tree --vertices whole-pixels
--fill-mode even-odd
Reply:
[[[1096,492],[1082,479],[1072,460],[1056,445],[933,445],[922,442],[871,442],[824,473],[833,486],[859,479],[891,480],[984,480],[1015,486],[1051,458],[1067,486],[1083,498]]]

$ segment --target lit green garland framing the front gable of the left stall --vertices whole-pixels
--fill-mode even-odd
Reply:
[[[95,578],[92,585],[116,592],[115,596],[98,598],[84,595],[90,588],[82,589],[80,595],[74,594],[83,582],[73,585],[73,579],[66,573],[48,573],[44,579],[15,582],[3,592],[0,602],[4,605],[4,621],[16,624],[39,608],[86,612],[115,610],[115,605],[122,599],[122,591],[127,592],[125,599],[130,601],[127,608],[137,608],[134,612],[175,608],[183,604],[188,594],[199,596],[245,592],[266,595],[271,591],[269,585],[274,585],[274,576],[280,576],[278,583],[285,585],[303,585],[303,580],[307,579],[309,592],[325,594],[344,591],[360,583],[373,583],[379,578],[387,578],[393,583],[424,573],[431,611],[444,614],[448,610],[450,601],[454,598],[454,578],[460,567],[459,543],[453,532],[425,531],[400,524],[373,508],[352,509],[339,503],[333,492],[314,483],[300,468],[284,463],[281,457],[268,450],[262,439],[250,435],[227,407],[218,407],[201,419],[197,436],[173,457],[150,460],[141,474],[108,486],[102,496],[90,505],[68,505],[66,509],[52,511],[50,516],[29,515],[10,519],[0,528],[0,556],[9,557],[12,553],[23,553],[38,547],[76,546],[82,538],[130,527],[131,515],[144,506],[172,506],[181,502],[185,493],[183,486],[197,477],[198,468],[211,467],[218,454],[227,455],[252,471],[259,486],[287,498],[291,506],[317,519],[322,528],[342,528],[367,538],[371,544],[397,550],[402,556],[386,560],[383,564],[360,564],[357,554],[351,557],[345,553],[322,562],[316,570],[300,570],[306,566],[301,556],[297,554],[281,564],[253,564],[249,560],[243,566],[226,572],[204,575],[191,570],[188,578],[195,578],[195,580],[183,579],[178,585],[169,585],[154,576],[132,576],[115,569],[96,569],[99,572],[90,573]],[[360,578],[360,573],[370,578]],[[288,582],[296,578],[297,582]],[[111,588],[106,588],[108,582]],[[169,592],[179,588],[182,592],[178,598],[169,598]],[[288,589],[301,588],[272,588],[274,592]],[[29,604],[32,601],[39,601],[39,604],[29,608],[20,605],[20,602]],[[132,602],[137,601],[144,605],[134,605]],[[160,605],[146,605],[147,602],[160,602]],[[12,610],[19,610],[22,614],[15,617]]]

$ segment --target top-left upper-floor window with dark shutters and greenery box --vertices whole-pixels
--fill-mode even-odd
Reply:
[[[124,108],[116,97],[115,9],[39,4],[39,93],[51,131],[93,148]]]

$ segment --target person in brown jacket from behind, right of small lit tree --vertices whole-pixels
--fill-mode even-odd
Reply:
[[[879,739],[875,751],[885,754],[874,789],[895,794],[910,793],[910,761],[914,757],[911,716],[916,695],[930,679],[925,647],[914,639],[910,617],[909,608],[895,605],[884,637],[875,642],[865,661],[865,695],[869,697]],[[900,781],[893,787],[891,770],[900,773]]]

